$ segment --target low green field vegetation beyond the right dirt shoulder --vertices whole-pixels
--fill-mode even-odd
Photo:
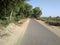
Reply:
[[[41,18],[42,21],[45,21],[46,23],[50,24],[50,25],[54,25],[54,26],[60,26],[60,17],[43,17]]]

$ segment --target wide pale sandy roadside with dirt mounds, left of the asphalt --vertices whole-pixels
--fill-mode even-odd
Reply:
[[[3,33],[3,35],[0,34],[0,45],[14,45],[19,37],[23,37],[28,22],[29,19],[20,26],[11,23],[4,29],[4,31],[0,30],[0,33]]]

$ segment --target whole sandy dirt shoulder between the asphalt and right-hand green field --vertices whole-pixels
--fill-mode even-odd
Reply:
[[[36,20],[36,21],[38,21],[40,24],[42,24],[43,26],[45,26],[50,31],[52,31],[53,33],[55,33],[57,36],[60,37],[60,27],[48,25],[48,24],[46,24],[45,22],[43,22],[41,20]]]

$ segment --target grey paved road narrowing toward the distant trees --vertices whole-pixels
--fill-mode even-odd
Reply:
[[[22,40],[18,40],[17,45],[60,45],[60,37],[31,19]]]

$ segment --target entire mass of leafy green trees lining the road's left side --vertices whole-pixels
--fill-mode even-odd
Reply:
[[[32,9],[27,0],[0,0],[0,22],[7,25],[24,18],[38,18],[42,14],[39,7]]]

